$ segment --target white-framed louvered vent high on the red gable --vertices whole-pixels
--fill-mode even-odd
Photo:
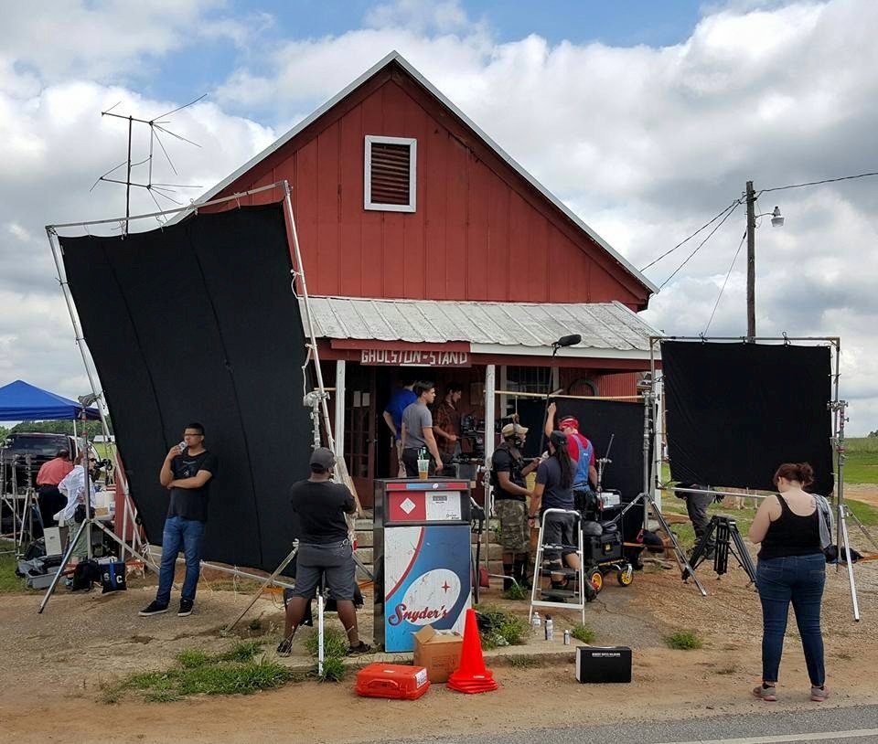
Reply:
[[[366,209],[414,211],[417,154],[417,140],[366,135]]]

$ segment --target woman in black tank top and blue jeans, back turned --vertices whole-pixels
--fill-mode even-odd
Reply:
[[[777,670],[790,602],[802,638],[811,700],[821,702],[829,696],[824,684],[820,632],[820,603],[826,579],[822,542],[829,535],[828,526],[822,523],[828,507],[822,496],[804,491],[813,483],[813,476],[807,462],[781,465],[774,478],[780,493],[763,501],[750,527],[751,542],[761,544],[756,586],[762,601],[762,685],[753,691],[761,700],[777,699]]]

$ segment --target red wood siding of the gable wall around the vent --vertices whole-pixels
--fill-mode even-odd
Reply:
[[[413,214],[363,208],[367,134],[417,140]],[[395,63],[218,196],[284,178],[314,294],[646,306],[637,279]]]

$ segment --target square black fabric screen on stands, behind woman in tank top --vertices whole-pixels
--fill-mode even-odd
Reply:
[[[812,491],[832,473],[827,346],[663,341],[670,476],[774,490],[783,462],[809,462]]]

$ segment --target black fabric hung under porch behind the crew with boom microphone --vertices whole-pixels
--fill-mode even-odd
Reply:
[[[622,400],[563,398],[554,401],[558,406],[555,420],[564,416],[575,416],[579,420],[579,430],[594,445],[595,457],[605,457],[610,437],[616,435],[609,453],[613,462],[605,467],[603,485],[605,490],[617,490],[624,503],[633,501],[643,491],[643,404]],[[540,454],[540,432],[545,425],[545,406],[545,400],[519,400],[519,421],[529,429],[524,447],[527,457]],[[650,456],[651,452],[650,447]],[[641,526],[643,509],[638,504],[625,515],[625,538],[633,540]]]

